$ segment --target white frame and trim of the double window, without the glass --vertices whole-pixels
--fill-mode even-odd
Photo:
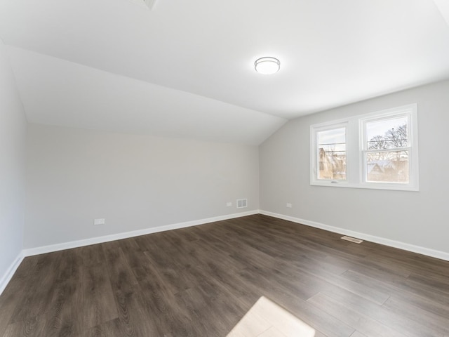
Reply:
[[[409,181],[408,183],[368,182],[366,177],[366,153],[374,151],[366,148],[366,124],[376,120],[407,117],[408,119],[408,147],[401,150],[408,151]],[[346,128],[346,180],[318,179],[318,133],[334,128]],[[395,151],[388,149],[386,152]],[[379,152],[378,150],[376,152]],[[381,151],[382,152],[382,151]],[[331,187],[354,187],[375,190],[403,190],[419,191],[418,170],[418,132],[417,132],[417,104],[403,105],[392,109],[370,112],[368,114],[328,121],[310,126],[310,185]]]

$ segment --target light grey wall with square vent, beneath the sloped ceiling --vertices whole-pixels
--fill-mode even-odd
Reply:
[[[27,153],[25,249],[259,206],[257,146],[29,124]]]

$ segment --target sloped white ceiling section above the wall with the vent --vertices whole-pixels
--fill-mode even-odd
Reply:
[[[284,120],[9,47],[31,122],[258,145]]]

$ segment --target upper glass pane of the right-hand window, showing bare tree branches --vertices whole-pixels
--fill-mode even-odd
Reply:
[[[406,116],[366,123],[366,148],[381,150],[408,147],[407,124]]]

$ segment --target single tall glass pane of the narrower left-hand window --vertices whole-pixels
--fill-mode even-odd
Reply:
[[[346,128],[319,131],[318,179],[346,179]]]

